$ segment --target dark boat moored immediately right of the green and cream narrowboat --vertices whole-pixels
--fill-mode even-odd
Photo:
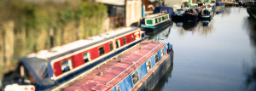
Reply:
[[[175,14],[172,15],[173,21],[181,21],[183,20],[183,14],[187,9],[177,9]]]

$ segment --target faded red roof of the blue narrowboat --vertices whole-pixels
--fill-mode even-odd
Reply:
[[[162,48],[165,43],[143,41],[117,58],[109,60],[89,74],[81,77],[63,90],[109,90],[128,76],[132,71],[148,60],[155,52]],[[100,75],[102,73],[102,75]],[[115,78],[113,80],[113,78]],[[107,84],[107,85],[106,85]]]

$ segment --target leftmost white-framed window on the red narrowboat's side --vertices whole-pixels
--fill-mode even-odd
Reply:
[[[66,72],[66,71],[70,71],[73,69],[73,65],[72,65],[72,60],[64,60],[61,62],[61,71],[62,73]]]

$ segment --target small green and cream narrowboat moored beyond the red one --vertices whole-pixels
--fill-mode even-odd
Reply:
[[[156,29],[170,26],[172,20],[172,7],[156,7],[153,14],[143,17],[141,29],[143,31],[155,31]]]

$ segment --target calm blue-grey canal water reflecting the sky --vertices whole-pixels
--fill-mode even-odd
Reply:
[[[173,44],[174,64],[157,89],[256,90],[256,23],[246,8],[225,8],[212,20],[173,22],[148,36]]]

